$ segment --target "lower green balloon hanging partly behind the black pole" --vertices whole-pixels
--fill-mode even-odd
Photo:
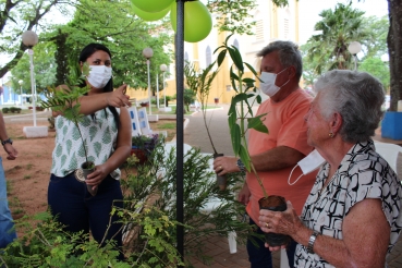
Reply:
[[[174,32],[176,31],[176,3],[170,9],[170,22]],[[197,42],[206,38],[212,29],[210,13],[202,2],[184,2],[184,40]]]

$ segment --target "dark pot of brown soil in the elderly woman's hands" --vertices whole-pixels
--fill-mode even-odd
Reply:
[[[263,197],[258,200],[259,209],[268,209],[271,211],[284,211],[287,210],[287,200],[279,195],[270,195]],[[291,237],[280,233],[265,233],[265,241],[270,246],[288,245]]]

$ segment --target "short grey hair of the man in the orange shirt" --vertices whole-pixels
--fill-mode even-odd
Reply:
[[[294,66],[296,69],[296,78],[300,82],[303,73],[302,54],[299,50],[299,46],[292,41],[272,41],[265,48],[263,48],[257,57],[265,57],[271,52],[278,51],[279,60],[282,66]]]

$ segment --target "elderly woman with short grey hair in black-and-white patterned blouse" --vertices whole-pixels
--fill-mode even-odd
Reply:
[[[386,267],[402,228],[402,187],[370,138],[382,117],[382,85],[334,70],[314,90],[305,120],[308,144],[322,157],[310,162],[320,167],[316,182],[301,218],[288,202],[283,212],[260,210],[261,229],[299,243],[296,267]]]

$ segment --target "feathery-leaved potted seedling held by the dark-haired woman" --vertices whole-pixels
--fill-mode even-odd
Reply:
[[[95,162],[88,157],[88,149],[86,139],[80,129],[80,123],[84,120],[84,114],[80,113],[80,102],[78,98],[83,97],[89,92],[89,87],[81,87],[80,85],[84,83],[86,75],[89,74],[88,64],[83,65],[83,73],[78,78],[69,80],[65,86],[60,88],[49,87],[46,93],[47,100],[41,101],[41,107],[50,108],[54,112],[60,112],[65,119],[70,120],[75,127],[82,141],[83,155],[85,156],[85,162],[81,163],[81,169],[75,171],[75,178],[85,182],[86,176],[94,172]],[[88,192],[95,196],[98,188],[87,185]]]

